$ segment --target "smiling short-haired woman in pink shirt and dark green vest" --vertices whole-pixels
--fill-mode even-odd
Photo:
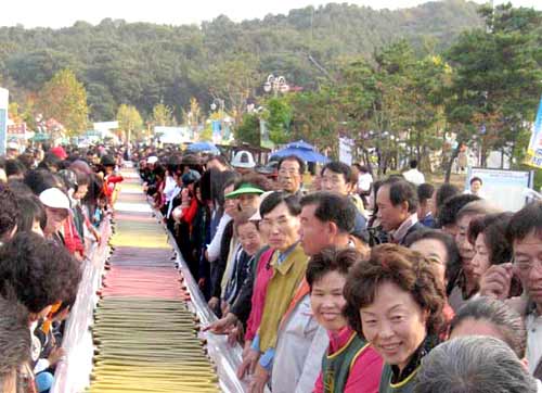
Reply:
[[[348,326],[345,315],[343,288],[348,270],[360,259],[353,249],[327,248],[313,255],[307,267],[312,313],[330,337],[315,393],[378,392],[383,359]]]

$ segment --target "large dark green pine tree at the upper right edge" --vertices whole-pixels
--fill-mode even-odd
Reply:
[[[486,29],[462,34],[448,51],[454,73],[447,115],[460,141],[481,145],[482,160],[509,142],[517,155],[542,91],[542,13],[504,4],[480,14]]]

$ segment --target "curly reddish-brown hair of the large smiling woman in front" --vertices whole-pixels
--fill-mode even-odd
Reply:
[[[392,282],[409,292],[427,316],[427,334],[443,331],[446,291],[436,269],[422,254],[397,244],[380,244],[371,250],[369,261],[361,261],[348,276],[345,297],[350,326],[363,337],[359,309],[375,301],[376,290]]]

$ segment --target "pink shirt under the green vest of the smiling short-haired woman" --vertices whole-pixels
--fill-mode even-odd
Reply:
[[[338,333],[327,332],[330,346],[326,354],[333,355],[340,350],[348,342],[352,332],[353,330],[348,326],[343,328]],[[378,393],[383,367],[384,360],[380,355],[372,346],[367,346],[356,359],[348,375],[344,393]],[[322,372],[320,372],[313,393],[323,393],[323,391],[324,383],[322,381]]]

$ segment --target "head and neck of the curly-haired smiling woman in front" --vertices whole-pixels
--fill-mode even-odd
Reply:
[[[422,358],[443,330],[444,288],[435,264],[395,244],[374,248],[345,286],[349,321],[384,358],[379,392],[414,390]]]

